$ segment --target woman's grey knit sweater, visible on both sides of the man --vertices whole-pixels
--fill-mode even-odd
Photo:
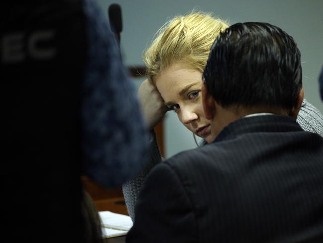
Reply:
[[[303,100],[301,110],[296,120],[305,131],[318,133],[323,137],[323,116],[312,104]],[[150,140],[149,164],[140,172],[137,177],[128,181],[122,186],[128,213],[132,220],[135,218],[136,200],[141,190],[146,176],[150,170],[158,163],[161,163],[162,157],[156,142],[155,134],[152,134]]]

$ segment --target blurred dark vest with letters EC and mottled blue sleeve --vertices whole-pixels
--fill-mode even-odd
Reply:
[[[148,148],[117,43],[93,0],[4,2],[0,13],[3,242],[94,242],[81,173],[120,186]]]

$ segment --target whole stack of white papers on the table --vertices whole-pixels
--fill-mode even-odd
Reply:
[[[132,227],[131,218],[127,215],[110,211],[100,211],[99,215],[102,221],[104,238],[126,235]]]

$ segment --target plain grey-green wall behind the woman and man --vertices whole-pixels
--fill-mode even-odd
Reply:
[[[112,3],[122,8],[121,48],[128,66],[143,65],[142,53],[156,31],[167,19],[193,8],[213,12],[231,24],[260,21],[281,27],[301,50],[305,98],[323,113],[317,81],[323,65],[323,0],[98,0],[106,16]],[[167,157],[196,147],[192,134],[173,112],[166,117],[165,137]]]

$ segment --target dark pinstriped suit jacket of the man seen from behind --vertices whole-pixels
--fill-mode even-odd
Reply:
[[[129,243],[323,242],[323,138],[287,116],[242,118],[156,166]]]

